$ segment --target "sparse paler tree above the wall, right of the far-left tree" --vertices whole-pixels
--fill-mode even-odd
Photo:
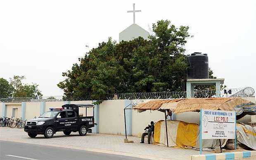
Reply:
[[[10,78],[10,85],[13,86],[13,97],[42,97],[43,94],[38,89],[38,84],[24,84],[25,76],[13,76]]]

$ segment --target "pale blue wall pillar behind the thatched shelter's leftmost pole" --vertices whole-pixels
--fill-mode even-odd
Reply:
[[[125,108],[129,104],[130,105],[128,107],[126,107],[126,108],[132,108],[133,105],[131,103],[132,103],[131,100],[124,100],[123,108]],[[126,111],[126,131],[127,131],[127,135],[131,136],[132,135],[132,122],[133,122],[132,121],[133,120],[132,116],[133,116],[133,111],[132,111],[132,109],[126,109],[125,111]],[[125,130],[123,131],[124,135],[126,134],[126,131]]]

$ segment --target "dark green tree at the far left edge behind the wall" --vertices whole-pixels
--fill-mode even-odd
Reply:
[[[0,98],[12,97],[14,88],[6,79],[0,78]]]

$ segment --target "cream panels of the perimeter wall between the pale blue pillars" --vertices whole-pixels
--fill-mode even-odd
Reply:
[[[255,102],[255,97],[247,97],[247,100]],[[132,100],[135,102],[147,102],[149,100]],[[71,104],[91,104],[92,101],[71,101]],[[21,103],[5,103],[7,104],[7,117],[11,117],[12,108],[18,108],[17,115],[21,116]],[[49,111],[52,107],[61,107],[66,102],[45,102],[45,111]],[[123,109],[127,105],[125,100],[106,100],[99,107],[99,132],[105,134],[124,134],[124,113]],[[85,116],[85,108],[80,108],[79,113]],[[0,111],[2,112],[2,103],[0,103]],[[2,113],[1,113],[2,114]],[[87,115],[93,115],[93,109],[87,110]],[[31,119],[34,116],[40,116],[40,102],[26,102],[26,119]],[[239,121],[247,123],[252,121],[255,116],[245,116]],[[255,118],[256,119],[256,118]],[[150,121],[157,122],[164,120],[164,113],[160,111],[145,111],[138,113],[137,110],[132,111],[132,135],[137,136],[144,132],[144,128]],[[199,124],[199,113],[186,112],[175,115],[175,120],[185,121]],[[256,121],[256,120],[255,120]]]

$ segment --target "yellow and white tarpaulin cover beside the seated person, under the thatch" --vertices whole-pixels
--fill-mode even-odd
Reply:
[[[187,148],[192,146],[199,148],[199,127],[195,123],[183,121],[167,121],[168,144],[170,147]],[[221,146],[225,146],[227,139],[221,140]],[[165,121],[158,121],[154,128],[154,144],[166,145]],[[203,139],[203,148],[216,148],[220,146],[218,139]]]

